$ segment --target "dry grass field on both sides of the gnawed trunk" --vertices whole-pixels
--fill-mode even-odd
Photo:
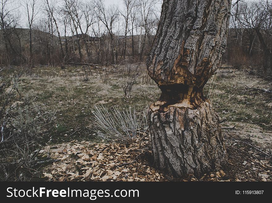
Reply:
[[[137,126],[141,125],[143,119],[140,116],[143,115],[142,109],[146,109],[159,98],[160,90],[147,77],[146,70],[141,67],[133,90],[128,97],[125,97],[121,85],[121,70],[109,74],[107,82],[104,83],[104,75],[100,77],[101,73],[105,74],[103,68],[91,70],[92,75],[89,75],[87,81],[78,76],[80,71],[83,73],[80,66],[67,66],[65,70],[47,66],[39,68],[31,76],[23,74],[16,86],[21,96],[15,91],[13,101],[8,105],[8,108],[15,105],[22,110],[20,119],[20,110],[14,109],[14,113],[17,115],[14,117],[14,122],[19,123],[28,115],[34,116],[32,121],[35,122],[36,129],[40,133],[48,135],[40,142],[41,145],[44,145],[45,143],[69,142],[74,139],[92,141],[100,134],[98,131],[104,131],[102,137],[107,140],[105,137],[107,132],[105,133],[105,131],[109,131],[111,125],[116,125],[116,123],[108,122],[109,116],[105,115],[112,116],[111,119],[114,120],[118,120],[119,116],[121,122],[118,124],[119,126],[115,126],[113,132],[128,137],[126,142],[132,142],[135,140],[133,132],[135,129],[140,129]],[[6,70],[5,74],[11,75],[11,71]],[[244,85],[263,88],[265,82],[260,76],[250,75],[248,72],[223,69],[219,70],[216,77],[210,80],[205,87],[205,95],[209,94],[209,99],[215,110],[225,121],[222,124],[224,126],[236,125],[238,132],[242,133],[239,135],[240,137],[250,136],[251,139],[255,137],[254,141],[262,142],[263,147],[271,144],[272,118],[270,115],[272,105],[267,103],[268,95],[257,91],[245,92],[240,89]],[[22,103],[24,104],[22,105]],[[101,107],[101,105],[107,112],[100,111],[100,116],[95,118],[92,112],[99,113],[98,106]],[[131,111],[130,107],[133,107]],[[42,112],[40,115],[37,114],[39,111]],[[36,115],[38,118],[35,118]],[[135,122],[132,120],[134,117],[138,119]],[[54,121],[50,125],[45,125],[47,121],[52,119]],[[103,123],[106,125],[104,130],[96,128],[99,119],[105,121]],[[124,126],[129,130],[125,131]],[[254,126],[259,132],[253,131]],[[237,134],[239,134],[238,132]],[[108,137],[110,140],[116,139],[112,135]],[[26,146],[29,143],[31,142],[26,142]]]

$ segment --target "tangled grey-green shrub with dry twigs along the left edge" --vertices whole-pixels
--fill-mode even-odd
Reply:
[[[21,97],[19,76],[0,78],[2,84],[7,84],[0,92],[0,180],[26,181],[39,175],[36,154],[55,119],[55,110]]]

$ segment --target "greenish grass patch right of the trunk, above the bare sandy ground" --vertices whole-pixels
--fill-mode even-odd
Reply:
[[[220,71],[220,70],[219,70]],[[265,95],[242,90],[245,85],[257,84],[261,78],[251,77],[243,72],[236,72],[232,77],[217,77],[204,88],[215,111],[227,121],[254,123],[261,127],[272,128],[272,109],[267,108]]]

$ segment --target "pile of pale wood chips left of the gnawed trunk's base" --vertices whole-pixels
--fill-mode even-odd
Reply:
[[[165,181],[158,170],[145,165],[149,138],[126,146],[76,140],[47,146],[40,154],[57,159],[47,165],[44,177],[53,181]]]

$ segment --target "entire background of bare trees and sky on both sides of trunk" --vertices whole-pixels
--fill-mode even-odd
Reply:
[[[1,0],[0,63],[33,67],[116,64],[127,57],[145,61],[162,1],[120,2],[108,6],[104,0]],[[271,24],[271,1],[234,3],[223,63],[271,70]]]

